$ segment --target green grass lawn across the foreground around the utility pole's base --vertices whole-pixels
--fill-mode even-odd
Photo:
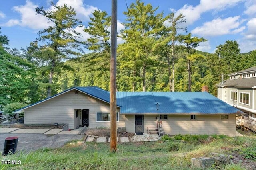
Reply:
[[[175,139],[182,139],[183,142]],[[0,164],[0,169],[196,170],[191,166],[190,159],[207,156],[212,152],[235,155],[242,160],[238,163],[234,160],[228,166],[213,166],[212,169],[246,169],[246,164],[254,164],[256,161],[255,135],[176,135],[175,138],[164,137],[157,142],[118,144],[117,154],[110,153],[109,143],[86,144],[88,146],[72,141],[59,149],[39,149],[28,154],[17,152],[14,155],[0,156],[0,160],[21,161],[20,165]],[[223,146],[233,149],[221,150],[220,147]],[[243,165],[243,162],[246,164]]]

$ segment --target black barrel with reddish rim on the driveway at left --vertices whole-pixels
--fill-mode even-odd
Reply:
[[[14,136],[14,137],[7,137],[4,141],[4,152],[3,155],[7,155],[8,153],[10,154],[14,154],[16,149],[17,149],[17,145],[18,145],[18,137]]]

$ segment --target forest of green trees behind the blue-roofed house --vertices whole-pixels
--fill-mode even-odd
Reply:
[[[79,41],[81,27],[73,8],[52,4],[53,11],[36,8],[52,26],[24,49],[8,48],[0,32],[0,110],[9,105],[31,104],[73,86],[110,88],[110,23],[105,11],[96,10]],[[118,91],[201,91],[216,96],[220,71],[227,74],[256,66],[256,50],[240,53],[236,41],[216,47],[215,53],[195,48],[204,37],[193,37],[180,23],[184,16],[164,17],[157,8],[141,0],[124,12],[125,29],[118,33]],[[182,32],[182,33],[180,33]],[[92,51],[85,54],[84,49]]]

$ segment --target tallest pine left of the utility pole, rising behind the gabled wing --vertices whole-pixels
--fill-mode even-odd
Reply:
[[[43,45],[38,45],[38,51],[35,52],[38,58],[46,61],[45,68],[50,72],[46,84],[47,97],[51,96],[54,86],[54,73],[63,67],[62,60],[80,55],[79,51],[82,51],[80,48],[82,42],[78,41],[81,35],[75,30],[82,25],[80,25],[81,21],[75,18],[74,8],[66,4],[58,6],[52,3],[52,6],[54,8],[52,11],[44,10],[43,7],[36,8],[36,13],[48,18],[53,25],[39,31],[40,37],[37,41],[42,42]]]

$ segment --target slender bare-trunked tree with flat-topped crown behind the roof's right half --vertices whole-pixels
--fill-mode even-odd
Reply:
[[[202,57],[202,55],[194,54],[194,48],[198,47],[200,42],[207,41],[207,39],[204,39],[203,37],[191,37],[191,33],[188,33],[187,35],[180,35],[179,41],[186,47],[186,61],[188,64],[188,91],[191,92],[191,64],[192,62],[196,61],[196,59]]]

